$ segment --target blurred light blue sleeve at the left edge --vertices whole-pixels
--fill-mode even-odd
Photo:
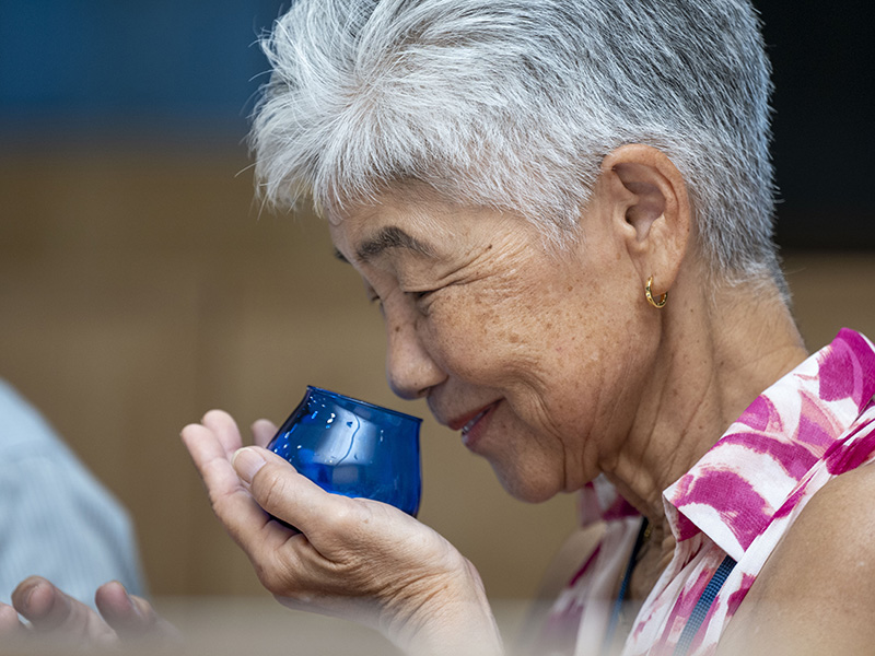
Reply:
[[[125,509],[0,380],[0,601],[32,574],[92,607],[107,581],[144,594]]]

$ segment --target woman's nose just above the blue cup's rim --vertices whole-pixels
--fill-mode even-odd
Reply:
[[[430,388],[446,377],[423,344],[415,317],[387,316],[386,342],[386,378],[400,398],[413,400],[427,396]]]

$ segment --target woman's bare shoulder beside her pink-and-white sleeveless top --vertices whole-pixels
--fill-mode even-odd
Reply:
[[[737,653],[868,654],[875,644],[875,466],[824,485],[769,557],[726,632]],[[756,635],[757,644],[749,644]],[[735,654],[736,649],[730,649]]]

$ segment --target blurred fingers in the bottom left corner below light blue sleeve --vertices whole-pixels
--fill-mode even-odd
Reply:
[[[100,651],[145,642],[156,648],[177,644],[176,629],[145,599],[128,595],[120,583],[97,588],[95,602],[100,614],[49,581],[31,576],[12,593],[12,606],[0,604],[0,644],[25,653]]]

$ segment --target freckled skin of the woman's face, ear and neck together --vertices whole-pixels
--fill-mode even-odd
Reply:
[[[381,301],[393,389],[467,424],[465,444],[518,499],[604,473],[667,530],[662,491],[806,354],[773,281],[711,279],[686,181],[651,147],[603,160],[562,250],[511,212],[417,187],[329,220]],[[427,246],[363,248],[389,229]],[[670,292],[662,309],[644,298],[651,278]]]

